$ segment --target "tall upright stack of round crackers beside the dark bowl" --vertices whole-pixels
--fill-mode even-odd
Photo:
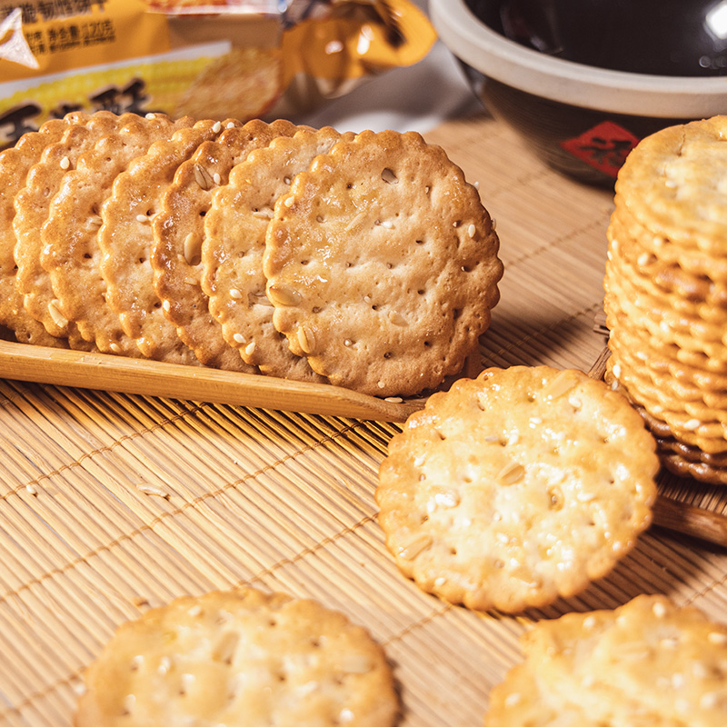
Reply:
[[[727,116],[643,140],[616,183],[607,379],[672,472],[727,483]]]

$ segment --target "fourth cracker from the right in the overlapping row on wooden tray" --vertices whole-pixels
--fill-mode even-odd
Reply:
[[[180,129],[169,140],[154,142],[147,154],[134,159],[116,177],[112,194],[101,207],[104,224],[98,232],[102,253],[99,270],[106,284],[106,303],[119,316],[124,333],[147,358],[199,365],[192,349],[167,320],[154,291],[149,260],[154,245],[152,219],[161,210],[162,195],[179,165],[228,124],[236,122],[203,120]]]

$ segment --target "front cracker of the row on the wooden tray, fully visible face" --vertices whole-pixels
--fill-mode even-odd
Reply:
[[[477,190],[420,134],[364,132],[275,204],[274,325],[331,383],[380,396],[458,373],[490,324],[503,264]]]

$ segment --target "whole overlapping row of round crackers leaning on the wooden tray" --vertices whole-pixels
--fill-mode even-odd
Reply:
[[[490,215],[415,133],[73,113],[0,180],[23,343],[401,396],[458,373],[499,299]]]

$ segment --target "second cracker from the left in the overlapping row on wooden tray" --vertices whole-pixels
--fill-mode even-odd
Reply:
[[[119,117],[111,112],[66,116],[70,124],[60,141],[50,144],[37,164],[28,171],[25,187],[15,195],[15,287],[23,296],[25,311],[56,337],[67,338],[71,348],[91,350],[75,322],[60,309],[50,274],[42,264],[44,242],[40,230],[50,214],[50,205],[65,175],[78,159],[118,128]]]

